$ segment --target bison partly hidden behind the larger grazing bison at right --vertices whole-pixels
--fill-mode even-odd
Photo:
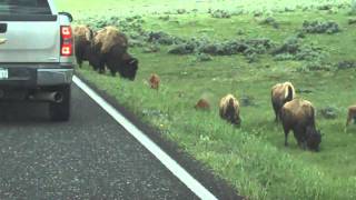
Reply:
[[[275,110],[276,122],[280,119],[281,107],[295,98],[295,89],[290,82],[277,83],[271,88],[271,106]]]

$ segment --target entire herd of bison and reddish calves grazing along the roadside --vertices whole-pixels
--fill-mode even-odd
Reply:
[[[106,27],[97,32],[87,26],[75,28],[75,53],[77,63],[82,61],[99,73],[103,73],[106,67],[112,76],[118,72],[120,77],[135,80],[138,69],[138,59],[128,53],[128,39],[115,27]],[[152,73],[148,80],[151,89],[158,90],[160,79]],[[285,133],[285,146],[288,146],[288,133],[291,130],[297,143],[303,149],[319,150],[322,133],[315,126],[315,108],[312,102],[296,98],[295,88],[290,82],[277,83],[271,88],[271,107],[275,112],[275,121],[281,122]],[[206,99],[200,99],[195,106],[199,110],[210,109]],[[219,116],[231,124],[240,126],[240,107],[233,94],[221,98]],[[356,106],[348,108],[346,127],[356,119]]]

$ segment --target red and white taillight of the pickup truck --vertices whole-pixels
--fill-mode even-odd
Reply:
[[[60,27],[60,56],[70,57],[73,53],[73,40],[70,26]]]

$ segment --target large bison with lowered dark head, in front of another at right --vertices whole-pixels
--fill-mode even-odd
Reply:
[[[285,132],[285,146],[288,146],[288,133],[293,130],[299,147],[319,150],[322,134],[315,128],[315,110],[309,101],[294,99],[286,102],[281,108],[280,119]]]

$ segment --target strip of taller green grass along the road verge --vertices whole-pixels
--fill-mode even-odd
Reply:
[[[250,199],[356,198],[355,178],[335,179],[317,164],[295,159],[265,139],[219,120],[215,109],[197,112],[182,102],[171,103],[175,94],[169,87],[157,92],[141,81],[119,81],[89,70],[80,73],[128,108],[136,108],[144,121],[177,141]]]

